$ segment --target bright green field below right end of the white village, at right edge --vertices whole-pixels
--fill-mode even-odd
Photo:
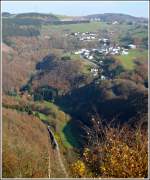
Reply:
[[[116,60],[119,60],[123,67],[127,70],[133,70],[135,68],[135,63],[134,60],[138,58],[141,60],[146,60],[148,59],[148,52],[147,50],[139,50],[139,49],[134,49],[134,50],[129,50],[128,55],[120,55],[120,56],[115,56]]]

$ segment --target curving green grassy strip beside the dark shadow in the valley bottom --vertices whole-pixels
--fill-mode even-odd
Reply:
[[[43,122],[47,122],[50,124],[52,122],[57,123],[58,130],[53,131],[53,132],[56,136],[55,138],[57,139],[58,143],[64,146],[65,148],[73,148],[74,146],[77,146],[77,141],[71,132],[70,126],[68,126],[70,117],[67,114],[65,114],[63,111],[61,111],[58,106],[54,105],[51,102],[38,101],[36,102],[36,105],[45,106],[46,108],[50,109],[51,114],[49,115],[40,113],[38,111],[34,111],[33,114],[39,117]]]

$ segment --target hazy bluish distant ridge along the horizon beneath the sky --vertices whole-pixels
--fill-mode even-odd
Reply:
[[[144,17],[135,17],[128,14],[121,13],[104,13],[104,14],[91,14],[86,16],[67,16],[67,15],[58,15],[52,13],[37,13],[37,12],[28,12],[28,13],[20,13],[20,14],[11,14],[9,12],[2,12],[3,18],[31,18],[42,20],[43,22],[58,22],[58,21],[90,21],[94,19],[98,19],[103,22],[114,22],[118,21],[119,23],[132,22],[132,23],[148,23],[148,18]]]

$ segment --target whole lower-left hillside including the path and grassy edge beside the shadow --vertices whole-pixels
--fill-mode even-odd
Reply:
[[[70,156],[74,154],[72,143],[76,141],[68,129],[72,138],[69,143],[63,131],[69,116],[50,102],[34,103],[29,99],[3,96],[3,177],[68,176],[66,152],[69,149]],[[58,149],[53,146],[48,125],[59,144]],[[29,155],[32,155],[30,160]]]

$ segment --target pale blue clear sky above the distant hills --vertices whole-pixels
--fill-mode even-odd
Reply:
[[[2,12],[38,12],[71,16],[123,13],[148,17],[148,1],[2,1]]]

